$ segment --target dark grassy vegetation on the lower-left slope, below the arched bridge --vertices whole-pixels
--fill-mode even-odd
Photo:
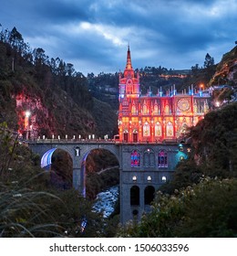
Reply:
[[[52,182],[52,172],[39,167],[39,158],[19,144],[5,123],[0,127],[0,237],[108,237],[110,223],[92,210],[93,201],[65,187],[68,176]],[[58,151],[53,165],[61,162]],[[64,159],[65,160],[65,159]],[[66,161],[67,162],[67,161]],[[55,166],[53,166],[54,168]],[[54,171],[53,171],[54,174]],[[57,180],[58,182],[58,180]],[[62,186],[64,185],[64,186]],[[67,189],[66,189],[67,188]],[[81,224],[87,221],[86,229]]]

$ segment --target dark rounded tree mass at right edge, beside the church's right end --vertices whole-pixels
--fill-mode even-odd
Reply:
[[[237,103],[209,112],[191,128],[192,157],[208,176],[236,176]]]

